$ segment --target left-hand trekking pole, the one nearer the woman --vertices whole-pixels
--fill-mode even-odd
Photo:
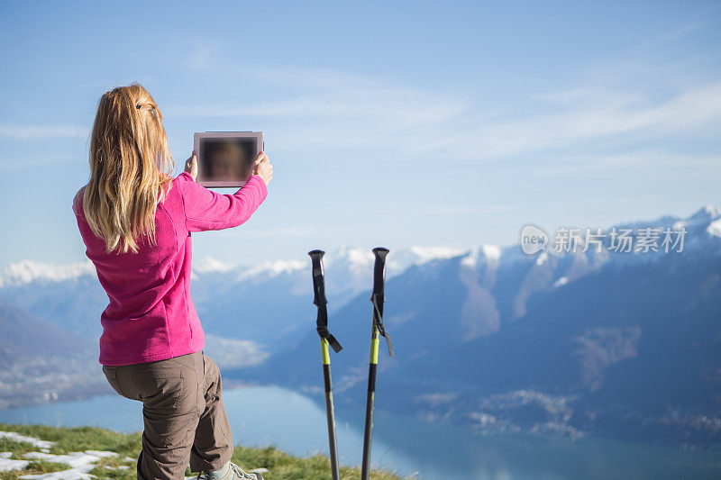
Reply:
[[[338,450],[335,443],[335,412],[333,412],[333,385],[331,383],[331,356],[328,352],[328,345],[335,353],[342,350],[341,344],[328,331],[328,309],[325,306],[328,299],[325,298],[325,280],[323,272],[323,250],[309,251],[313,264],[313,303],[318,307],[318,320],[315,322],[316,330],[321,338],[321,360],[323,362],[323,383],[325,387],[325,413],[328,418],[328,444],[331,449],[331,474],[333,480],[341,478],[338,469]]]

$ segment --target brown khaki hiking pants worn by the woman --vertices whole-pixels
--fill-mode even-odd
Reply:
[[[114,390],[142,402],[144,430],[138,457],[141,480],[182,479],[224,466],[233,435],[222,397],[220,370],[203,351],[119,367],[103,366]]]

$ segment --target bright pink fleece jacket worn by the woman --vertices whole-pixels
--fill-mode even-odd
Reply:
[[[87,224],[82,193],[73,199],[73,212],[110,301],[100,316],[100,363],[129,365],[203,349],[205,336],[189,290],[190,232],[248,220],[268,195],[263,179],[253,175],[233,195],[220,195],[180,174],[156,209],[157,244],[144,238],[138,253],[105,253],[105,241]]]

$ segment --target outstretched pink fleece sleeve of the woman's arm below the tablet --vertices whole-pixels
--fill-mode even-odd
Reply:
[[[187,172],[178,175],[176,181],[183,197],[187,231],[237,227],[251,218],[268,196],[265,182],[257,175],[251,175],[233,195],[216,194],[196,184]]]

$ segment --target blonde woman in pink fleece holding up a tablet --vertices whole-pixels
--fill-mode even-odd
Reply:
[[[140,85],[100,98],[90,140],[90,180],[73,199],[86,254],[110,303],[100,317],[100,363],[108,383],[142,402],[141,479],[260,479],[231,463],[233,436],[221,376],[203,352],[189,294],[191,232],[251,217],[273,177],[260,153],[233,195],[196,184],[196,152],[172,177],[162,114]]]

